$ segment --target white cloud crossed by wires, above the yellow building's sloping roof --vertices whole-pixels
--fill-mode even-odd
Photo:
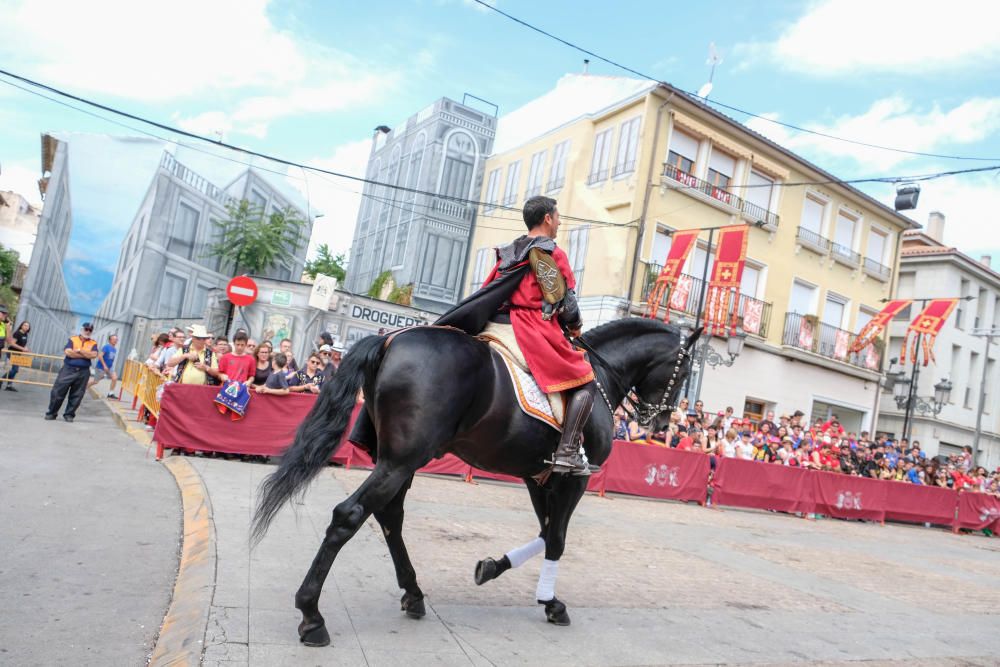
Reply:
[[[762,115],[774,120],[779,118],[775,113]],[[906,153],[796,132],[763,118],[751,118],[746,125],[820,164],[824,164],[821,158],[846,160],[852,167],[863,168],[864,176],[884,175],[886,170],[914,158]],[[902,97],[887,97],[877,100],[861,114],[844,115],[830,123],[808,123],[804,127],[837,137],[922,153],[975,154],[977,142],[1000,131],[1000,97],[974,98],[951,109],[942,109],[937,104],[920,108]],[[962,150],[966,146],[971,148]]]

